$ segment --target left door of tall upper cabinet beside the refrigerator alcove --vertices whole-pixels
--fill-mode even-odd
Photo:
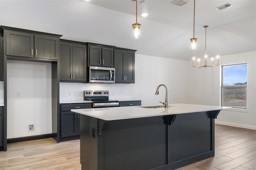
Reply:
[[[60,80],[71,81],[72,74],[72,44],[60,42]]]

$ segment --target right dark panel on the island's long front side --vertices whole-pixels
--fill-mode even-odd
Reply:
[[[214,119],[218,111],[178,114],[168,123],[168,164],[170,169],[214,156]],[[167,168],[167,167],[166,167]]]

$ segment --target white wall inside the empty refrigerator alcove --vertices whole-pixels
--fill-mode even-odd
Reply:
[[[51,72],[50,63],[7,61],[7,139],[52,133]]]

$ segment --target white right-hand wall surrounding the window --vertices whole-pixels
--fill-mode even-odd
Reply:
[[[220,58],[220,65],[248,64],[247,110],[230,109],[221,111],[216,123],[256,129],[256,51],[226,55]],[[190,61],[189,64],[192,64]],[[188,103],[220,105],[221,66],[214,68],[189,67]]]

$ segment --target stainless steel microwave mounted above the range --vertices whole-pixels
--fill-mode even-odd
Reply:
[[[90,66],[89,82],[90,83],[114,83],[115,68]]]

